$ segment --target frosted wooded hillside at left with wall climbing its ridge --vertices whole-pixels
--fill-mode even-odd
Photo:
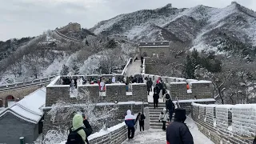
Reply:
[[[57,74],[109,74],[114,67],[126,65],[136,50],[90,30],[68,28],[0,42],[0,85]]]

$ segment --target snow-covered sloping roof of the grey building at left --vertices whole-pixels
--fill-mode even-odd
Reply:
[[[0,117],[10,112],[26,122],[38,123],[42,118],[42,106],[46,104],[46,87],[42,87],[27,95],[25,98],[15,103],[13,106],[3,110]]]

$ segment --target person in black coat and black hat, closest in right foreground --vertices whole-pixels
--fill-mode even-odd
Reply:
[[[194,144],[192,134],[184,123],[186,120],[186,110],[176,109],[174,122],[171,122],[166,130],[167,144]]]

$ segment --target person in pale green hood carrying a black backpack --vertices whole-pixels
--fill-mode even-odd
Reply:
[[[86,142],[86,132],[83,129],[82,114],[74,114],[66,144],[88,144]]]

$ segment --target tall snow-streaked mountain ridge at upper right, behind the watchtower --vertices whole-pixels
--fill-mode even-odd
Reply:
[[[127,35],[134,42],[179,41],[199,51],[242,51],[246,55],[256,53],[255,20],[256,13],[237,2],[225,8],[200,5],[177,9],[168,4],[156,10],[121,14],[99,22],[90,30],[94,34]]]

